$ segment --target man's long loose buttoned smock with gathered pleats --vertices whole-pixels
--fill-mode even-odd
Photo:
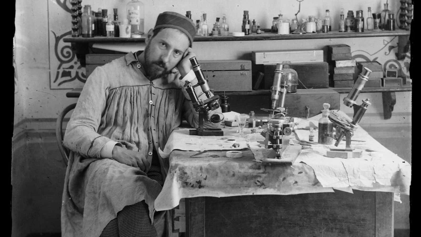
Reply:
[[[198,127],[198,113],[181,91],[179,73],[149,81],[143,67],[128,53],[96,67],[83,87],[63,141],[71,150],[61,207],[63,237],[99,236],[123,207],[142,200],[154,219],[160,184],[139,168],[101,159],[107,142],[139,151],[152,164],[153,149],[164,148],[183,118]],[[165,180],[169,160],[159,160]]]

